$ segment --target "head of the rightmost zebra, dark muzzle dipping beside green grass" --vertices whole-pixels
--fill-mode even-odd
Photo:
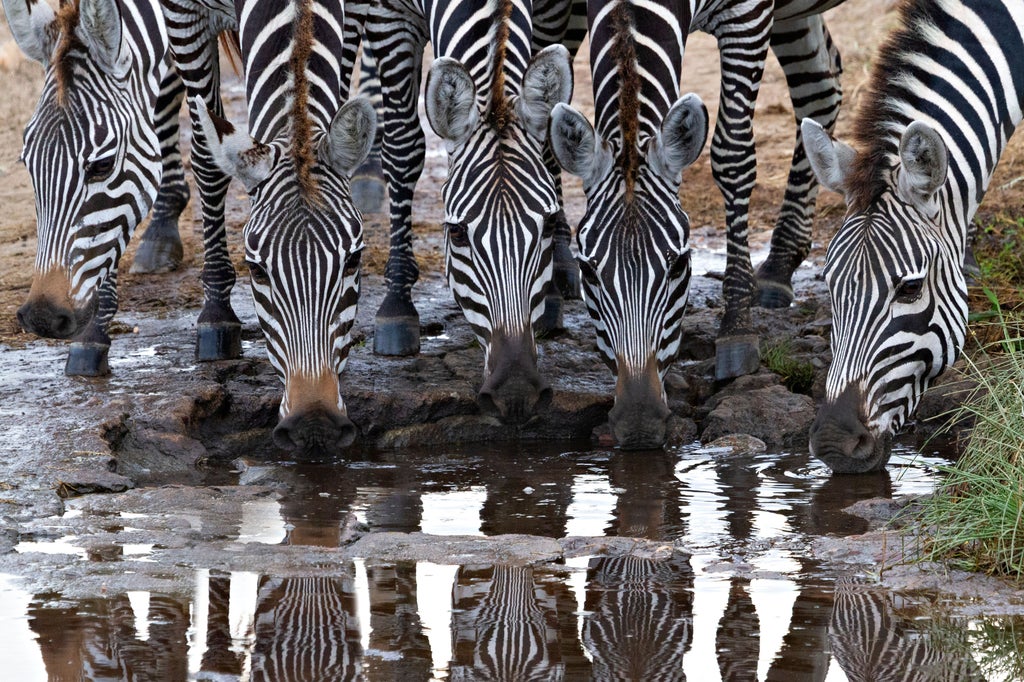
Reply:
[[[836,473],[878,471],[892,435],[964,345],[963,246],[943,224],[946,144],[911,123],[897,157],[861,176],[866,160],[852,147],[808,119],[802,133],[818,180],[849,206],[825,257],[833,364],[811,453]],[[878,178],[869,193],[865,177]]]

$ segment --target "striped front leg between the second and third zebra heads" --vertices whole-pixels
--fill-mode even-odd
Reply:
[[[388,182],[391,248],[384,270],[387,292],[377,310],[374,352],[415,355],[420,352],[420,314],[413,305],[413,285],[420,268],[413,254],[413,190],[423,171],[426,138],[417,113],[426,23],[384,20],[367,24],[367,39],[379,56],[384,110],[381,163]]]

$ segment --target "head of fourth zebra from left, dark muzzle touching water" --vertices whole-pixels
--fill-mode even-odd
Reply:
[[[552,113],[555,156],[583,178],[587,194],[577,230],[584,297],[598,348],[616,376],[608,420],[626,449],[665,441],[663,381],[679,354],[690,283],[690,223],[679,185],[707,137],[708,110],[688,94],[656,134],[641,140],[637,165],[624,170],[613,143],[600,139],[582,114],[567,105]]]

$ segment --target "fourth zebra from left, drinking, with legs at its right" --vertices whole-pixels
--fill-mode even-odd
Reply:
[[[750,310],[755,273],[746,209],[756,170],[752,118],[767,50],[775,51],[786,74],[798,120],[813,116],[830,129],[842,99],[842,69],[820,12],[836,4],[590,3],[597,131],[582,114],[559,105],[552,114],[551,139],[562,167],[583,178],[587,193],[577,231],[580,267],[598,348],[616,375],[609,422],[624,447],[662,445],[669,417],[664,378],[679,354],[690,278],[679,173],[699,154],[707,135],[707,113],[697,99],[673,104],[686,36],[707,31],[721,52],[712,167],[728,225],[726,308],[716,342],[716,375],[727,379],[760,365]],[[634,34],[635,41],[621,39]],[[631,66],[633,60],[640,66]],[[678,128],[686,140],[685,154],[673,155],[668,166],[658,158],[665,156],[664,143],[655,141],[667,126]],[[810,251],[816,190],[798,135],[772,251],[758,270],[765,305],[788,305],[793,299],[793,271]]]

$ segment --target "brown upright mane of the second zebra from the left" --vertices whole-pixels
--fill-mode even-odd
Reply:
[[[302,196],[317,201],[319,193],[312,167],[315,160],[313,148],[313,125],[309,118],[309,77],[306,67],[313,45],[312,0],[297,0],[298,11],[292,35],[292,56],[289,68],[292,72],[294,91],[292,93],[291,155]]]

